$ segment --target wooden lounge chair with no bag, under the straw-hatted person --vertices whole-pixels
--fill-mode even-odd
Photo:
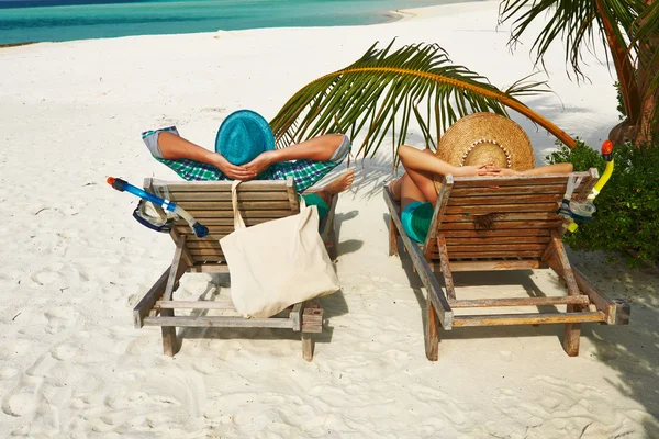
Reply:
[[[539,177],[444,178],[428,236],[423,245],[410,239],[400,219],[399,203],[384,188],[389,207],[389,255],[398,255],[400,236],[415,271],[427,290],[426,357],[438,356],[438,324],[445,330],[463,326],[565,324],[563,349],[579,353],[580,324],[629,322],[629,305],[612,301],[570,266],[561,237],[563,217],[557,214],[569,178],[581,178],[573,200],[584,200],[597,170]],[[482,215],[490,224],[484,226]],[[478,217],[481,216],[481,221]],[[458,300],[453,272],[551,268],[567,284],[566,296]],[[444,288],[435,278],[440,273]],[[455,309],[567,305],[566,312],[465,315]]]

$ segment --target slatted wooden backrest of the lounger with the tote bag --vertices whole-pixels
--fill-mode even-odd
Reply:
[[[186,249],[194,264],[225,262],[219,240],[234,230],[231,185],[232,181],[144,181],[145,190],[160,192],[209,228],[208,236],[198,238],[185,219],[174,223],[171,237],[176,241],[186,235]],[[165,189],[168,194],[163,193]],[[299,213],[293,179],[241,183],[238,209],[246,226]]]

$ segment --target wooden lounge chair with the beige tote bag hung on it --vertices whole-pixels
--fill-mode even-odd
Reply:
[[[175,301],[174,292],[186,272],[228,273],[219,239],[233,232],[231,181],[164,182],[145,179],[144,189],[156,193],[156,187],[166,188],[170,201],[188,211],[209,228],[203,238],[194,236],[188,224],[176,221],[170,235],[176,243],[171,266],[150,288],[133,309],[136,328],[160,326],[163,349],[174,356],[179,344],[177,327],[243,327],[281,328],[302,335],[302,356],[313,358],[313,333],[323,330],[323,309],[317,303],[298,303],[270,318],[243,318],[231,301]],[[332,259],[336,257],[334,210],[337,196],[330,205],[330,213],[321,222],[321,236]],[[247,226],[281,218],[300,212],[298,194],[292,178],[279,181],[248,181],[238,187],[238,206]],[[210,309],[230,313],[233,316],[176,316],[175,309]]]

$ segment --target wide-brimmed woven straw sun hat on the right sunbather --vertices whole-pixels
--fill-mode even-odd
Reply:
[[[491,162],[517,171],[535,167],[533,146],[524,130],[495,113],[473,113],[458,120],[439,139],[436,156],[454,166]],[[435,175],[437,189],[442,179]]]

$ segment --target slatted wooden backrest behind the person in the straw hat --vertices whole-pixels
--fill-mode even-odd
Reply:
[[[561,230],[557,214],[570,178],[579,184],[573,200],[584,200],[597,170],[535,177],[447,176],[438,195],[426,255],[439,259],[436,237],[443,235],[449,260],[539,258]]]

